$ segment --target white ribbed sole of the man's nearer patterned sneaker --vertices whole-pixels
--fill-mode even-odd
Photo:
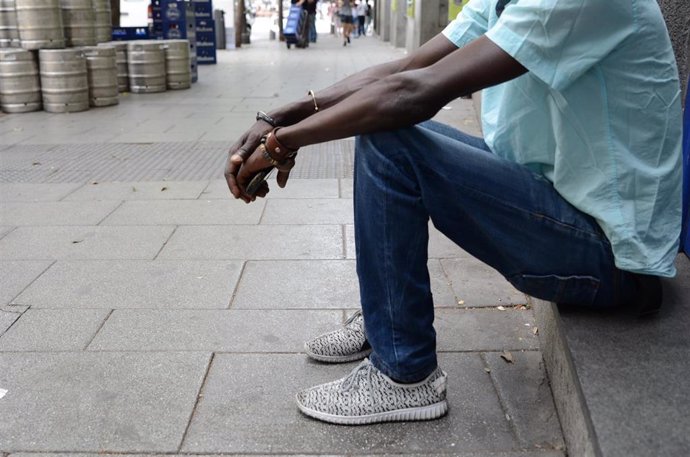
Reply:
[[[434,420],[444,416],[448,412],[448,402],[443,400],[429,406],[419,406],[417,408],[398,409],[383,413],[367,414],[365,416],[336,416],[334,414],[322,413],[297,401],[297,407],[302,413],[323,422],[339,425],[367,425],[379,422],[410,422]]]

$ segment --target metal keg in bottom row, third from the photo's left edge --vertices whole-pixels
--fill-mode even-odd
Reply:
[[[89,104],[91,106],[117,105],[119,92],[115,48],[112,46],[84,48],[84,56],[89,81]]]

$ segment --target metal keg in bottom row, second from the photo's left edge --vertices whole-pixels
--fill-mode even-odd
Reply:
[[[89,80],[84,51],[41,49],[43,109],[50,113],[75,113],[89,109]]]

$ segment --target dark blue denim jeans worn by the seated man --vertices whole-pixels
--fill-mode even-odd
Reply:
[[[480,138],[436,123],[357,138],[357,275],[372,364],[402,382],[436,368],[428,221],[534,297],[609,307],[629,274],[590,216]]]

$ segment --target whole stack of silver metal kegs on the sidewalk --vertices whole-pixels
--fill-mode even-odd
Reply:
[[[78,112],[115,105],[120,92],[196,80],[194,36],[113,42],[111,34],[110,0],[0,0],[0,108]]]

